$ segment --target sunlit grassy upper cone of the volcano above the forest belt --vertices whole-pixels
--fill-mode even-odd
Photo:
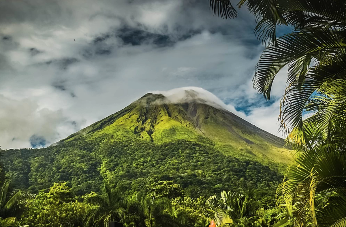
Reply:
[[[104,134],[131,136],[155,144],[178,140],[202,142],[223,154],[264,163],[288,164],[291,158],[289,150],[283,148],[283,139],[227,110],[198,101],[170,104],[161,94],[149,93],[61,142],[81,137],[94,139]]]

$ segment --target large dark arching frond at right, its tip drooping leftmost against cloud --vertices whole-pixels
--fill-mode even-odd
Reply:
[[[316,38],[318,37],[318,38]],[[340,40],[337,33],[307,29],[293,32],[277,39],[277,44],[271,44],[264,50],[256,66],[254,87],[266,99],[270,99],[273,80],[277,73],[287,64],[295,68],[294,60],[303,58],[320,59],[320,53],[333,53],[337,49],[346,49],[346,43]],[[306,64],[306,63],[305,63]]]

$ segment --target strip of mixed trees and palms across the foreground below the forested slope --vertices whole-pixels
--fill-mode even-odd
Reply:
[[[220,227],[269,227],[282,219],[277,217],[281,210],[265,210],[261,208],[263,200],[256,201],[241,191],[190,198],[171,181],[148,188],[155,194],[125,195],[121,187],[106,183],[101,192],[80,197],[66,183],[54,184],[48,192],[26,193],[13,200],[12,208],[21,207],[24,212],[18,219],[0,218],[0,226],[107,227],[109,221],[119,221],[126,227],[204,227],[215,220]],[[176,192],[179,195],[175,196]]]

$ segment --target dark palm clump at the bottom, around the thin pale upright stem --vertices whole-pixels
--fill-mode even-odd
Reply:
[[[174,209],[167,198],[152,199],[134,195],[128,203],[123,219],[127,226],[174,227],[180,226],[174,217]]]

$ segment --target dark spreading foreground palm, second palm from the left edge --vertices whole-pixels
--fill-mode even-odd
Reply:
[[[88,226],[109,226],[110,221],[120,221],[124,217],[126,199],[120,189],[104,184],[104,194],[92,193],[86,202],[94,205],[85,217]]]

